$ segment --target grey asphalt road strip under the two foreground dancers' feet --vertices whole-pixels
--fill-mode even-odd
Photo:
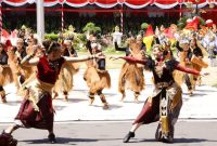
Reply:
[[[56,144],[48,143],[48,132],[37,129],[18,129],[13,133],[18,146],[216,146],[216,121],[179,121],[175,125],[174,144],[156,142],[154,134],[157,122],[140,127],[136,136],[124,144],[131,122],[125,121],[78,121],[55,123]],[[5,125],[0,125],[0,131]]]

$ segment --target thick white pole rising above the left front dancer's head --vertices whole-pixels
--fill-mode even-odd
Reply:
[[[44,8],[43,0],[37,0],[37,37],[41,44],[44,38]]]

